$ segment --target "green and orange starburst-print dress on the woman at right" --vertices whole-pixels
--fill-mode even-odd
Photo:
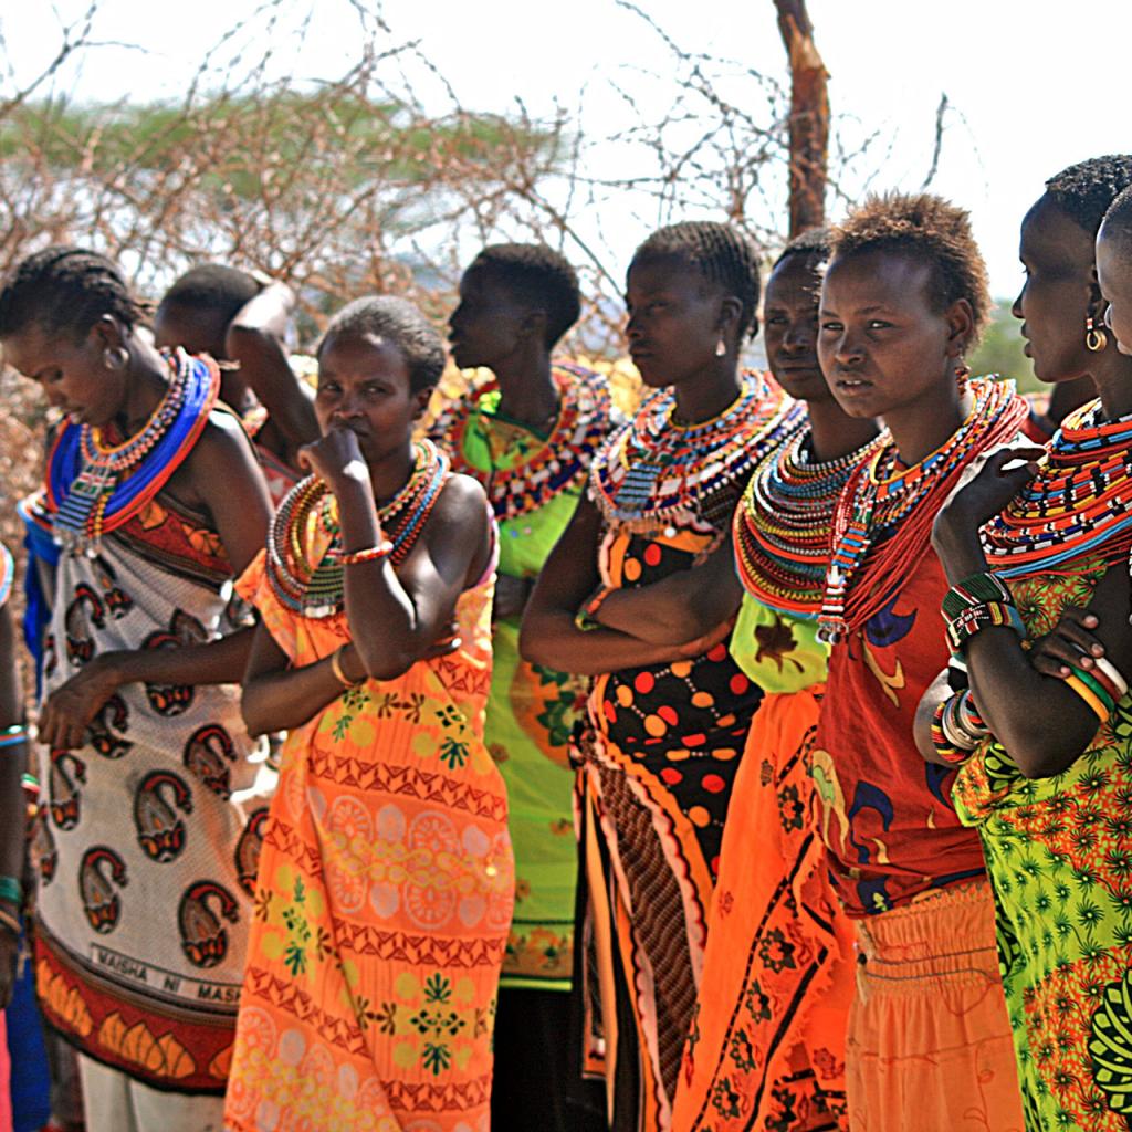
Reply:
[[[1104,567],[1009,583],[1030,638]],[[1027,779],[993,739],[960,770],[995,890],[1027,1132],[1132,1127],[1132,697],[1066,771]]]

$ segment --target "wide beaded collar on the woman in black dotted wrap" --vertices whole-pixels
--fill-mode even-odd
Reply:
[[[714,528],[705,505],[724,488],[745,487],[763,456],[806,419],[806,406],[764,374],[744,374],[739,396],[712,420],[676,424],[675,408],[676,394],[658,391],[594,456],[590,495],[610,525],[669,538],[683,526]]]

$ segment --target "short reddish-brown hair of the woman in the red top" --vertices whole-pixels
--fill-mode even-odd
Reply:
[[[990,316],[990,289],[970,214],[931,192],[869,197],[833,229],[832,254],[848,259],[887,251],[928,264],[928,298],[942,312],[966,299],[974,316],[975,345]]]

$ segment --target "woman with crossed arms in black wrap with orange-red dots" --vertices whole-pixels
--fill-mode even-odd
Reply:
[[[760,688],[730,659],[730,521],[800,405],[739,354],[757,252],[714,223],[629,265],[628,344],[654,391],[599,449],[523,621],[531,661],[592,677],[577,739],[586,1055],[625,1132],[671,1126],[728,798]]]

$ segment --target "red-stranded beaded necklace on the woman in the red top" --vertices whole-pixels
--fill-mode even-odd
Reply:
[[[970,389],[975,405],[967,420],[920,463],[898,471],[890,441],[850,475],[833,513],[833,552],[818,617],[823,640],[856,632],[884,608],[927,552],[932,523],[963,469],[1021,429],[1028,408],[1013,381],[978,378]],[[889,531],[874,550],[876,535]]]

